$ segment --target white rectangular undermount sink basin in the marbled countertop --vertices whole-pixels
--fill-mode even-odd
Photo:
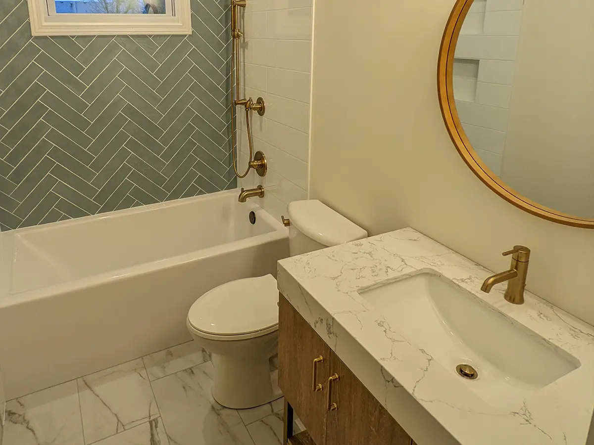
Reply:
[[[419,271],[359,295],[489,405],[525,399],[580,366],[563,349],[433,272]],[[472,365],[478,378],[463,379],[459,364]]]

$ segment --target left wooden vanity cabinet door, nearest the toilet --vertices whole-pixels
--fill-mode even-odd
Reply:
[[[322,357],[315,363],[314,360]],[[283,295],[279,298],[279,386],[316,445],[326,444],[330,347]],[[314,391],[314,383],[322,389]]]

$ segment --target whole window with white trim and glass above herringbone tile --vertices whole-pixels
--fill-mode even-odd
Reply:
[[[189,2],[29,0],[31,33],[33,36],[191,34]]]

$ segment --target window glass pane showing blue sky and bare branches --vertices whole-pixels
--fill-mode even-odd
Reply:
[[[0,0],[2,1],[2,0]],[[58,14],[165,14],[165,0],[48,0]]]

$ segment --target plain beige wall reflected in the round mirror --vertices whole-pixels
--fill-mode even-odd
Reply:
[[[585,47],[594,7],[566,3],[525,0],[501,177],[540,204],[594,218],[594,51]]]

